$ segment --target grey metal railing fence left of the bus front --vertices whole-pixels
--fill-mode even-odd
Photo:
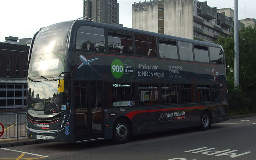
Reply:
[[[0,139],[26,137],[26,113],[0,114],[0,123],[4,126],[4,134]]]

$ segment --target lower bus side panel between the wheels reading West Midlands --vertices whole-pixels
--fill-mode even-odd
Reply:
[[[205,109],[184,106],[147,106],[139,108],[136,113],[127,114],[133,124],[133,135],[158,131],[200,126],[200,117]],[[143,118],[141,118],[143,117]]]

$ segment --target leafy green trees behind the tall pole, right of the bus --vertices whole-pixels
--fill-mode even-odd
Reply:
[[[228,89],[234,90],[234,35],[220,37],[217,44],[224,48],[227,65]],[[247,26],[239,30],[239,89],[256,90],[256,27]]]

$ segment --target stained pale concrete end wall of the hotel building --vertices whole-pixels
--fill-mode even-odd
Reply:
[[[132,28],[158,32],[158,1],[132,4]],[[193,39],[193,0],[164,0],[164,34]]]

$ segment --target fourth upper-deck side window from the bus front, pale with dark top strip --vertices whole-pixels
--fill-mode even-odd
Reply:
[[[176,41],[159,40],[158,47],[160,58],[178,59]]]

